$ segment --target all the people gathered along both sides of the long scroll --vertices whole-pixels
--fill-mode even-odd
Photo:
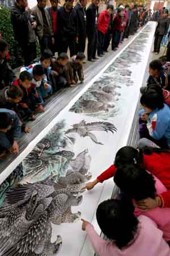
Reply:
[[[111,40],[116,51],[151,16],[150,11],[133,3],[120,5],[116,11],[108,5],[100,14],[99,0],[92,0],[87,9],[87,0],[80,0],[75,7],[73,0],[66,0],[59,8],[58,0],[51,0],[51,4],[45,9],[46,0],[38,0],[37,6],[29,10],[27,0],[16,0],[11,10],[18,57],[24,59],[19,77],[8,64],[8,43],[0,39],[2,159],[9,153],[19,153],[18,139],[22,131],[30,131],[27,121],[34,121],[36,113],[45,111],[44,102],[53,93],[83,82],[86,38],[87,60],[94,62],[108,51]],[[155,40],[159,42],[167,14],[165,10],[156,27]],[[35,61],[37,38],[41,56]],[[86,184],[91,190],[114,177],[120,189],[116,198],[104,201],[96,211],[100,229],[109,241],[101,238],[90,222],[82,220],[82,229],[98,256],[170,255],[169,67],[166,56],[149,65],[147,85],[141,88],[138,148],[120,148],[114,164]]]

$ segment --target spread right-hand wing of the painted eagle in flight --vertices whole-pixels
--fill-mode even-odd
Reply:
[[[113,123],[109,122],[91,122],[86,124],[87,131],[111,131],[111,133],[114,133],[114,131],[117,131],[116,126],[113,125]]]

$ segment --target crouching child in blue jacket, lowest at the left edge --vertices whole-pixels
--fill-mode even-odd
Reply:
[[[9,109],[0,109],[0,157],[18,154],[18,139],[21,135],[22,123],[18,115]]]

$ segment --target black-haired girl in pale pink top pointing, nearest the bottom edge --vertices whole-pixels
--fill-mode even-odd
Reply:
[[[122,200],[107,200],[96,212],[101,231],[109,241],[101,238],[94,227],[83,221],[91,245],[98,256],[169,256],[170,249],[163,240],[163,232],[146,216],[134,216],[134,207]]]

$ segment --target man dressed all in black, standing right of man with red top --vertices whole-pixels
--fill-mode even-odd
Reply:
[[[70,49],[70,57],[76,54],[76,46],[78,43],[78,19],[76,10],[73,8],[74,0],[65,0],[65,4],[58,10],[58,38],[59,51],[67,53]]]

